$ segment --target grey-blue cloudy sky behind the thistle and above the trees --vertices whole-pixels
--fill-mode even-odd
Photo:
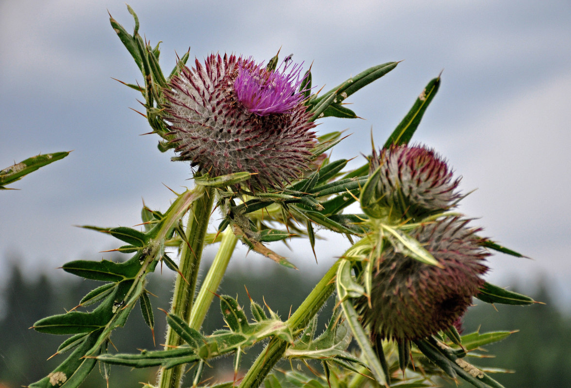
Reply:
[[[333,157],[357,156],[399,123],[441,71],[440,91],[415,136],[463,176],[461,207],[485,234],[534,260],[498,255],[490,281],[548,278],[571,298],[571,3],[568,1],[162,1],[132,0],[140,33],[162,41],[167,71],[191,48],[202,59],[235,52],[266,60],[282,47],[313,62],[326,89],[375,64],[403,60],[351,96],[365,120],[321,120],[322,133],[352,134]],[[38,153],[69,157],[0,193],[0,265],[17,257],[34,273],[77,258],[101,257],[114,241],[73,225],[139,223],[142,199],[166,209],[191,185],[190,169],[156,149],[135,82],[138,69],[108,23],[107,10],[132,31],[122,1],[0,2],[0,168]],[[324,272],[344,246],[336,236],[292,257]],[[331,242],[335,244],[331,244]],[[242,252],[242,251],[241,251]],[[257,268],[242,252],[235,265]]]

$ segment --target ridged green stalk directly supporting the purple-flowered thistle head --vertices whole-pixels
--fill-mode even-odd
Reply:
[[[198,276],[200,258],[202,258],[204,246],[204,236],[206,236],[212,203],[214,202],[214,189],[211,187],[202,187],[202,189],[204,190],[204,195],[194,201],[190,207],[186,232],[188,244],[183,244],[180,253],[180,273],[176,276],[170,310],[171,314],[183,318],[186,322],[190,319],[192,311],[196,277]],[[166,337],[165,350],[183,343],[182,339],[174,330],[171,330],[170,326],[167,328]],[[163,369],[159,377],[159,387],[178,388],[183,377],[183,371],[184,365]]]

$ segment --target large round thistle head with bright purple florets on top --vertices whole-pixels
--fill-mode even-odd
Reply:
[[[307,168],[315,147],[301,67],[268,71],[251,58],[210,55],[182,68],[164,90],[165,119],[179,159],[210,176],[255,173],[246,185],[282,188]]]

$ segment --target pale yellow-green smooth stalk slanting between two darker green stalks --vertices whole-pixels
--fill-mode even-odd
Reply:
[[[202,326],[202,322],[210,308],[212,299],[214,299],[216,290],[218,290],[224,273],[226,273],[228,262],[230,262],[232,253],[234,253],[237,241],[238,237],[234,235],[232,228],[228,227],[222,232],[222,242],[220,243],[218,252],[214,257],[214,261],[212,261],[212,266],[208,270],[202,282],[202,286],[200,286],[198,296],[196,296],[196,300],[194,301],[194,308],[192,308],[190,320],[188,321],[188,326],[192,329],[200,330],[200,326]]]

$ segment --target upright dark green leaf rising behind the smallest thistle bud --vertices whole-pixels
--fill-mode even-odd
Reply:
[[[408,111],[407,115],[404,116],[404,119],[395,128],[395,131],[393,131],[391,136],[389,136],[387,142],[383,145],[383,148],[389,148],[392,144],[408,144],[412,139],[412,135],[415,134],[416,128],[418,128],[424,112],[436,95],[439,86],[440,76],[437,76],[428,82],[427,86],[416,99],[411,110]]]

